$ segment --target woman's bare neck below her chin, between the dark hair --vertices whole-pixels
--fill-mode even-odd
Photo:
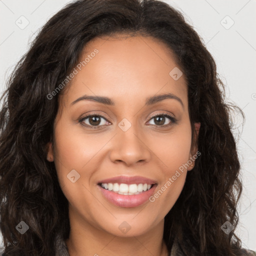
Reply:
[[[70,218],[70,233],[65,243],[69,256],[168,256],[163,240],[163,224],[164,220],[140,235],[117,236],[95,228],[76,216]]]

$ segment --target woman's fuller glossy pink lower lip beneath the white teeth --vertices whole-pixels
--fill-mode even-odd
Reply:
[[[143,191],[139,194],[123,195],[118,194],[113,191],[109,191],[97,185],[102,193],[102,195],[111,203],[120,207],[136,207],[148,200],[148,198],[153,194],[157,184],[152,185],[149,190]]]

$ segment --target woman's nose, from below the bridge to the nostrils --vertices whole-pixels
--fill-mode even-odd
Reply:
[[[133,125],[127,131],[117,129],[117,134],[114,136],[111,145],[111,161],[115,163],[123,162],[127,166],[137,162],[148,162],[151,151],[147,146],[145,135],[139,135],[140,133]]]

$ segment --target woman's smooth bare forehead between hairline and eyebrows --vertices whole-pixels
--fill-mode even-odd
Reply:
[[[85,45],[75,69],[77,74],[63,95],[64,104],[83,94],[132,103],[165,92],[187,104],[184,75],[177,80],[171,76],[172,70],[180,70],[174,54],[153,37],[96,37]]]

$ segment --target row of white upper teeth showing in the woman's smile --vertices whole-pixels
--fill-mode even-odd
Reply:
[[[152,187],[150,184],[125,184],[125,183],[101,183],[101,186],[107,190],[112,190],[113,192],[116,192],[118,194],[125,194],[125,195],[131,195],[131,194],[139,194],[142,191],[146,191]]]

